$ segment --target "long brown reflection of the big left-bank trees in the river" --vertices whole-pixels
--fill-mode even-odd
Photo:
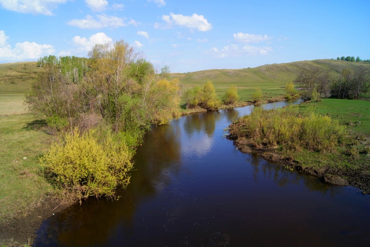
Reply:
[[[57,239],[62,246],[104,245],[118,224],[131,226],[141,200],[154,196],[171,182],[172,174],[180,168],[179,127],[175,124],[154,128],[134,157],[134,171],[125,190],[118,190],[118,201],[104,198],[88,200],[51,217],[39,232],[45,239]],[[124,229],[129,229],[124,227]],[[50,237],[53,236],[53,237]],[[47,246],[48,243],[37,243]],[[41,241],[41,240],[40,240]],[[49,246],[54,246],[50,243]]]

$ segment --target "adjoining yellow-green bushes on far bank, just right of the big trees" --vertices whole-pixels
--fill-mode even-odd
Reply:
[[[186,107],[189,109],[202,107],[207,110],[216,110],[221,106],[221,100],[218,99],[210,80],[203,85],[203,88],[196,86],[186,91],[184,99]],[[234,104],[238,99],[238,89],[235,85],[231,85],[222,96],[224,104]]]

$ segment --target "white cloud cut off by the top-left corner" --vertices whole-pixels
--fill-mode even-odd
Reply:
[[[67,0],[0,0],[0,4],[6,10],[16,11],[24,14],[53,15],[53,8]]]

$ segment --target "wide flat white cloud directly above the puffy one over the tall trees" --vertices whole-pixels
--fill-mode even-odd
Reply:
[[[124,23],[122,18],[116,16],[107,16],[105,14],[97,15],[98,20],[95,20],[94,17],[87,15],[86,19],[73,19],[68,21],[67,24],[79,27],[79,28],[87,28],[87,29],[94,29],[94,28],[103,28],[103,27],[124,27],[127,26]]]

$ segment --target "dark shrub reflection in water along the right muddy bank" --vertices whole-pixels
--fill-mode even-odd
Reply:
[[[298,171],[288,171],[279,164],[271,164],[258,154],[250,154],[246,161],[253,167],[253,178],[256,183],[258,183],[258,176],[262,174],[263,177],[274,181],[279,187],[297,185],[303,180],[309,191],[317,191],[323,195],[330,193],[331,197],[338,192],[335,186],[322,183],[319,178]]]

